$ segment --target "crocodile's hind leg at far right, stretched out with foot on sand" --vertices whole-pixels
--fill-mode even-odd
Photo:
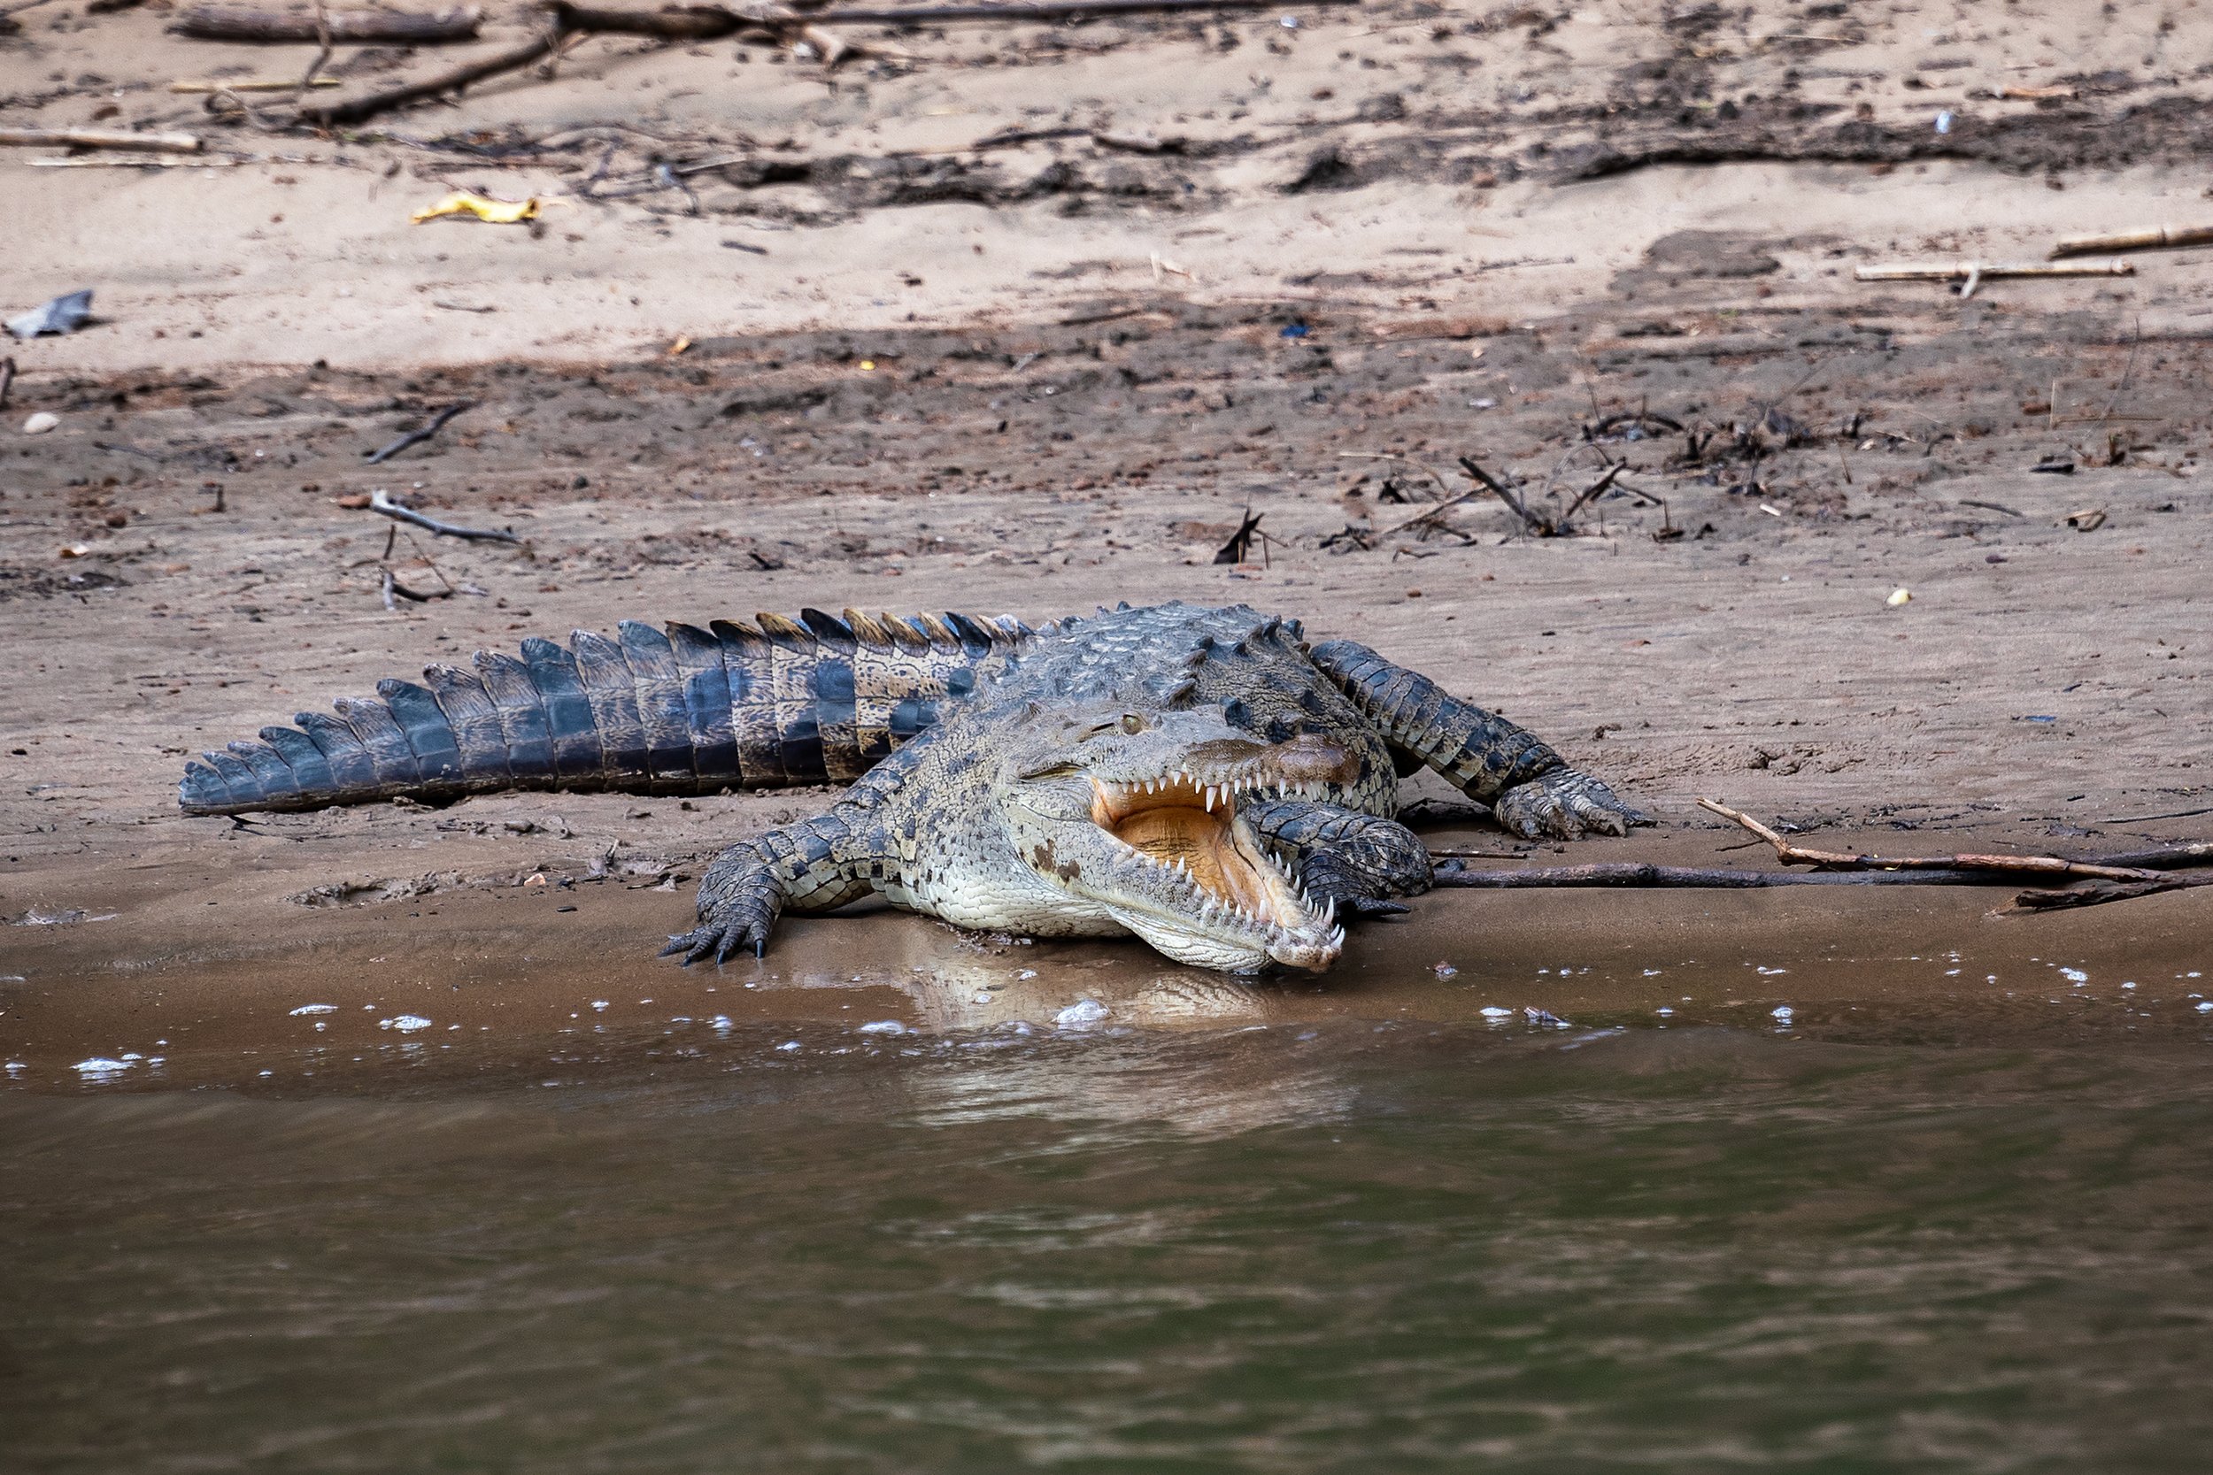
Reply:
[[[1651,816],[1624,805],[1598,778],[1573,770],[1536,734],[1445,692],[1419,670],[1392,666],[1368,646],[1315,646],[1315,666],[1401,752],[1445,783],[1487,803],[1518,836],[1629,834]]]

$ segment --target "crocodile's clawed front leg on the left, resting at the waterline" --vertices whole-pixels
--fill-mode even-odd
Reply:
[[[744,946],[759,958],[786,909],[834,911],[867,896],[870,865],[881,847],[865,838],[872,825],[854,823],[861,818],[854,805],[841,803],[721,851],[699,878],[699,927],[671,938],[662,958],[684,953],[684,966],[704,958],[724,962]]]

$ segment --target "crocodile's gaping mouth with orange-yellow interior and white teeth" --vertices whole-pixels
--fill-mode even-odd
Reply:
[[[1213,942],[1226,953],[1250,951],[1253,966],[1268,958],[1299,969],[1330,966],[1343,949],[1337,904],[1315,907],[1239,816],[1250,798],[1306,792],[1306,785],[1259,770],[1228,776],[1180,770],[1140,781],[1093,776],[1091,823],[1149,871],[1142,893],[1153,902],[1131,924],[1171,955],[1191,958]],[[1155,933],[1188,935],[1188,942],[1171,946]]]

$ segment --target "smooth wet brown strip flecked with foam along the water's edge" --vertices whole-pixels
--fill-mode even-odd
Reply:
[[[1684,860],[1713,849],[1613,843],[1631,845]],[[781,1046],[1255,1026],[2213,1042],[2213,1013],[2198,1008],[2213,997],[2202,891],[1998,916],[2007,896],[1441,891],[1405,920],[1361,927],[1328,975],[1237,980],[1135,942],[978,938],[881,907],[788,920],[761,962],[677,971],[646,944],[684,924],[682,893],[586,880],[292,911],[266,878],[208,878],[128,898],[111,920],[18,931],[7,1068],[40,1090],[297,1095],[653,1079],[682,1061],[744,1068]],[[217,909],[246,922],[210,927]],[[266,924],[301,911],[283,931]],[[1565,1024],[1534,1022],[1531,1008]],[[102,1059],[122,1064],[84,1064]]]

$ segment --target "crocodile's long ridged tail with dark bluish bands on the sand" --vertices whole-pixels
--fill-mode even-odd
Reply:
[[[1033,637],[1018,619],[801,610],[662,630],[622,621],[562,648],[478,652],[378,681],[294,728],[188,763],[186,814],[443,803],[500,789],[715,794],[850,783]]]

